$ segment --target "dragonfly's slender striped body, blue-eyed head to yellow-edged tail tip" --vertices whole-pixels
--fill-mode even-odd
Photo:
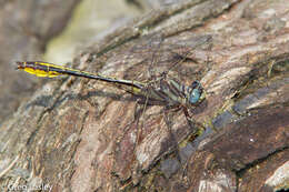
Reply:
[[[162,73],[160,78],[149,82],[139,82],[90,73],[42,61],[17,61],[17,64],[18,70],[37,77],[72,75],[112,83],[131,94],[144,98],[148,103],[159,103],[168,108],[182,109],[186,115],[188,114],[188,109],[198,105],[205,99],[203,88],[199,81],[196,80],[190,85],[186,85],[173,78],[169,78],[167,73]]]

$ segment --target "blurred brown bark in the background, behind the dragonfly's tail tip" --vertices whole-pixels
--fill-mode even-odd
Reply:
[[[14,62],[39,59],[78,2],[0,1],[0,125],[37,87],[30,77],[17,73]]]

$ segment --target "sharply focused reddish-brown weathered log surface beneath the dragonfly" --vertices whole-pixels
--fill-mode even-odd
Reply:
[[[169,74],[186,84],[200,80],[207,92],[193,110],[206,127],[201,135],[195,137],[178,111],[169,114],[169,133],[161,105],[148,105],[139,118],[137,98],[109,84],[49,81],[1,124],[1,166],[8,168],[0,172],[1,186],[288,189],[287,0],[163,7],[93,42],[76,55],[73,67],[146,81],[180,58]]]

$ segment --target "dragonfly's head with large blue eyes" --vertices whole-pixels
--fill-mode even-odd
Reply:
[[[196,104],[198,102],[201,102],[205,99],[202,92],[203,88],[201,87],[201,83],[199,81],[193,81],[190,85],[189,103]]]

